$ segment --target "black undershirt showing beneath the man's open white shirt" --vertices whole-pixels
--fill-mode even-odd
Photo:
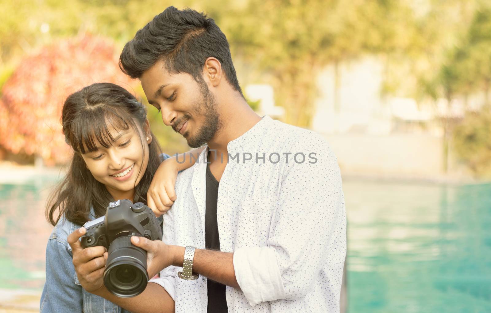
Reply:
[[[217,223],[217,198],[219,182],[206,166],[206,215],[205,215],[205,245],[207,249],[220,250]],[[225,298],[225,285],[208,279],[208,313],[228,313]]]

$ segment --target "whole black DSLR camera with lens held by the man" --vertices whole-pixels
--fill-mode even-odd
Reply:
[[[152,210],[130,200],[109,203],[106,215],[86,222],[82,247],[102,245],[108,249],[104,285],[114,295],[130,298],[148,283],[147,252],[131,243],[131,236],[162,240],[162,229]]]

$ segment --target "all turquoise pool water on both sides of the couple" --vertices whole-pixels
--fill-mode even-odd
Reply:
[[[0,185],[0,289],[42,289],[53,183]],[[343,186],[350,313],[491,312],[491,185]]]

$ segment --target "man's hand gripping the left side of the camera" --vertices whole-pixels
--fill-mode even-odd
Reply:
[[[106,258],[104,253],[107,251],[103,246],[83,248],[80,237],[85,235],[85,228],[79,228],[71,233],[68,244],[72,247],[73,266],[83,289],[91,293],[97,293],[105,289],[103,274],[106,268]]]

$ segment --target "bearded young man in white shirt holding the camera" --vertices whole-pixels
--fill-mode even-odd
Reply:
[[[254,113],[225,36],[194,10],[165,9],[120,62],[166,125],[208,149],[177,179],[164,240],[132,238],[161,278],[134,298],[112,295],[104,264],[90,261],[104,249],[82,250],[81,229],[69,242],[82,286],[132,312],[338,312],[346,214],[326,141]]]

